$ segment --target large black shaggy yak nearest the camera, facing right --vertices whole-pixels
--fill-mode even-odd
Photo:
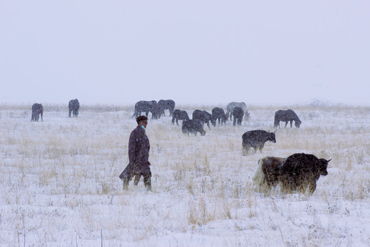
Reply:
[[[331,161],[331,159],[329,160]],[[299,191],[310,194],[316,190],[316,181],[320,176],[328,175],[328,163],[325,158],[312,154],[292,154],[278,167],[278,182],[283,193]]]

